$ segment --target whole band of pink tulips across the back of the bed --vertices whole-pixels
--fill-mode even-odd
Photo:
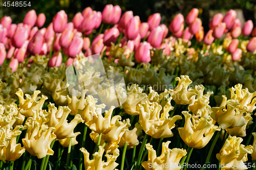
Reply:
[[[168,35],[168,28],[160,25],[161,16],[159,13],[148,17],[147,22],[140,21],[139,16],[134,16],[132,11],[126,11],[121,16],[119,6],[106,5],[101,12],[93,11],[90,7],[84,9],[82,13],[77,13],[72,22],[68,22],[68,16],[65,11],[59,11],[53,18],[47,28],[41,28],[45,24],[46,16],[44,14],[36,15],[34,10],[29,11],[23,23],[12,23],[9,16],[1,19],[0,25],[0,65],[6,59],[12,60],[17,65],[23,62],[30,55],[48,55],[51,50],[54,53],[50,59],[49,66],[60,65],[63,54],[69,56],[68,64],[73,62],[77,54],[85,52],[85,56],[101,53],[103,50],[110,49],[111,43],[115,43],[119,36],[124,34],[121,39],[122,46],[127,45],[126,53],[135,51],[137,62],[150,62],[150,50],[155,48],[165,48],[164,53],[170,53],[169,41],[173,42],[175,37],[182,38],[184,42],[190,43],[190,39],[195,35],[198,42],[204,42],[210,45],[215,39],[222,37],[224,33],[230,32],[234,38],[228,52],[239,59],[242,51],[237,48],[238,36],[242,33],[244,36],[256,36],[256,27],[253,29],[251,20],[248,20],[243,29],[241,22],[236,18],[236,11],[230,10],[223,17],[221,13],[216,14],[209,23],[210,30],[204,34],[202,21],[198,18],[199,10],[192,9],[185,18],[189,25],[184,28],[184,17],[177,14],[169,25],[169,31],[173,37],[167,38],[167,42],[162,40]],[[94,29],[103,26],[103,23],[114,25],[112,28],[99,34],[92,43],[87,36],[92,34]],[[39,29],[41,28],[41,29]],[[141,39],[146,39],[141,42]],[[256,50],[256,37],[251,38],[247,45],[247,51]],[[171,43],[172,46],[173,43]],[[174,45],[174,44],[173,44]],[[104,48],[104,46],[106,46]],[[7,50],[7,52],[6,52]],[[11,63],[13,63],[11,62]],[[30,61],[31,62],[31,61]],[[14,70],[14,69],[13,69]]]

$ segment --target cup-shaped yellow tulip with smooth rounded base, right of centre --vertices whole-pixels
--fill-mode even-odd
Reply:
[[[181,139],[190,148],[204,148],[215,131],[221,130],[220,127],[214,125],[215,121],[208,115],[201,117],[196,124],[195,121],[191,122],[192,115],[188,111],[183,111],[182,114],[185,116],[185,125],[184,128],[178,128],[178,131]]]

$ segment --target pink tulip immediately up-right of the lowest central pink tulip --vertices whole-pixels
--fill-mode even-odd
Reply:
[[[148,35],[147,42],[149,42],[153,47],[159,47],[163,39],[163,30],[160,26],[154,28],[153,31]]]

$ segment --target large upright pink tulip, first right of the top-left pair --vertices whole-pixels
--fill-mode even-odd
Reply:
[[[61,10],[53,17],[52,23],[54,32],[62,33],[68,23],[68,15],[65,11]]]

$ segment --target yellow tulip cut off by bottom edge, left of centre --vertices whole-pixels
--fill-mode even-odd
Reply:
[[[90,154],[86,149],[81,148],[80,151],[83,153],[84,167],[86,170],[113,170],[118,165],[115,162],[119,156],[117,152],[114,152],[113,155],[105,154],[106,162],[102,161],[104,149],[101,146],[99,146],[99,152],[93,154],[93,160],[90,160]]]

